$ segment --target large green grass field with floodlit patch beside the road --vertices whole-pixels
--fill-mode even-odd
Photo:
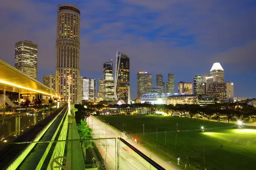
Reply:
[[[207,170],[256,169],[255,127],[246,126],[238,129],[237,125],[228,123],[153,115],[99,116],[99,119],[106,119],[115,127],[132,134],[139,141],[143,141],[145,147],[162,158],[169,160],[172,157],[173,164],[177,164],[175,159],[179,156],[182,164],[178,167],[181,169],[186,163],[191,165],[188,166],[190,170],[195,170],[198,164],[202,170],[204,153]],[[145,124],[144,136],[143,123]],[[180,132],[177,133],[175,150],[176,123]],[[200,130],[201,126],[206,128],[204,133]]]

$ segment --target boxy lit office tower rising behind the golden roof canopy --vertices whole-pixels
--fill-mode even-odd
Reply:
[[[37,79],[37,53],[38,45],[32,41],[19,41],[15,43],[15,68]]]

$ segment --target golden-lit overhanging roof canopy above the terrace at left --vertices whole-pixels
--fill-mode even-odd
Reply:
[[[29,77],[17,68],[0,59],[0,90],[32,94],[43,94],[63,98],[61,94],[53,91],[41,82]]]

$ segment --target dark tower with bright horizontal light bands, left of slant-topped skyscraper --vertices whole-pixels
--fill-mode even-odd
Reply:
[[[104,100],[113,102],[114,97],[114,78],[113,78],[113,62],[105,62],[103,64],[103,90]]]

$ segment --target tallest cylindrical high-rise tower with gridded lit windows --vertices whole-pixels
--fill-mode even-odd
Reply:
[[[56,91],[79,103],[80,11],[71,4],[58,6],[56,35]],[[70,89],[67,75],[71,75]]]

